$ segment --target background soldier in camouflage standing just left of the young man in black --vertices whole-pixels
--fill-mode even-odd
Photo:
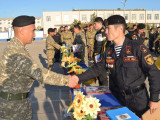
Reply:
[[[93,45],[94,45],[94,38],[96,35],[96,30],[94,30],[93,25],[89,25],[89,30],[86,32],[86,38],[87,38],[87,45],[90,48],[89,57],[92,57],[93,55]]]

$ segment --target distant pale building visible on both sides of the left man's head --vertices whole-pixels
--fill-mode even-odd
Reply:
[[[14,18],[0,18],[0,32],[3,31],[8,31],[9,28],[12,27],[12,21]],[[36,29],[41,29],[43,28],[42,24],[42,18],[41,17],[36,17],[35,19],[35,27]]]

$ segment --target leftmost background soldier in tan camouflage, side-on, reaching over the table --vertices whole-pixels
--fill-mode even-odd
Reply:
[[[46,38],[46,50],[47,50],[47,58],[48,58],[48,69],[52,70],[53,68],[53,58],[55,55],[55,50],[60,49],[61,46],[55,42],[53,39],[54,29],[48,29],[48,37]]]

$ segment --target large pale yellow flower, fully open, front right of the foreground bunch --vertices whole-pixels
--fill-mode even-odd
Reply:
[[[85,98],[83,101],[83,110],[86,112],[86,115],[90,114],[90,116],[97,116],[97,112],[100,111],[101,104],[99,103],[99,99],[89,97]]]

